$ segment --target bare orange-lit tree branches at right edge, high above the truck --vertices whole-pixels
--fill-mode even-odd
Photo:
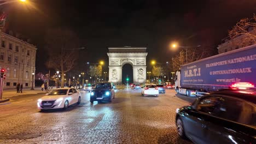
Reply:
[[[254,14],[251,19],[245,18],[236,23],[236,25],[229,31],[229,38],[235,39],[243,35],[242,43],[256,44],[256,15]],[[251,31],[250,29],[254,29]],[[239,41],[238,43],[241,43]]]

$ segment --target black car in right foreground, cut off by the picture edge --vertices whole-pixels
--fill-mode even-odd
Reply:
[[[256,91],[217,91],[176,110],[181,137],[194,143],[256,143]]]

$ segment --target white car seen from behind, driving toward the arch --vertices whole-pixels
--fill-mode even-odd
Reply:
[[[146,83],[145,86],[142,87],[141,94],[143,96],[155,95],[155,97],[158,97],[159,95],[158,87],[154,83]]]

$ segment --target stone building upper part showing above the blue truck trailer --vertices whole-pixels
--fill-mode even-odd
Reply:
[[[256,35],[256,27],[249,27],[247,31],[253,35]],[[230,38],[225,38],[222,41],[223,43],[217,47],[219,53],[224,53],[240,49],[241,47],[256,44],[256,39],[248,39],[247,35],[240,35],[239,37],[236,37],[232,40],[230,40]]]

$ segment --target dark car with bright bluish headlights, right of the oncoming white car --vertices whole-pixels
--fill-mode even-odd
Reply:
[[[115,91],[110,82],[98,82],[90,93],[90,102],[108,100],[115,98]]]

